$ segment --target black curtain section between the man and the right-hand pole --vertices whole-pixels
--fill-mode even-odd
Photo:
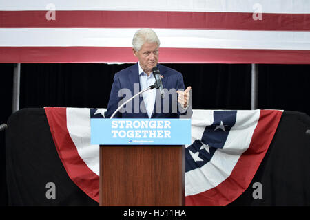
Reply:
[[[193,109],[251,109],[251,65],[170,64],[192,86]]]

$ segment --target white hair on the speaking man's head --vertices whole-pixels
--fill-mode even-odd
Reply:
[[[141,28],[137,30],[132,39],[132,47],[134,50],[139,51],[145,42],[157,43],[158,47],[161,45],[161,41],[159,41],[158,36],[151,28]]]

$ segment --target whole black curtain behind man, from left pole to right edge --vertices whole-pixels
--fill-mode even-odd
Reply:
[[[20,107],[107,107],[113,76],[131,64],[22,64]],[[192,86],[194,109],[251,109],[251,65],[165,64]],[[258,108],[310,115],[310,65],[258,65]],[[12,89],[10,89],[12,90]]]

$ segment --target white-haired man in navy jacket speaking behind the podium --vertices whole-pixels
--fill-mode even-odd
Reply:
[[[179,118],[189,107],[189,91],[185,86],[180,72],[158,64],[159,46],[161,42],[151,28],[142,28],[134,34],[132,50],[138,62],[114,75],[109,104],[105,118],[110,118],[116,111],[121,100],[126,100],[138,91],[154,85],[153,67],[161,73],[163,88],[167,95],[161,98],[158,89],[145,91],[138,101],[127,103],[123,111],[118,111],[114,118]],[[176,96],[178,94],[178,99]],[[127,97],[130,96],[130,97]],[[179,104],[177,104],[177,102]],[[181,113],[183,111],[183,113]]]

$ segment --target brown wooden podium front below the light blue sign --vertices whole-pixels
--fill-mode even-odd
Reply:
[[[100,145],[100,206],[184,203],[184,145]]]

